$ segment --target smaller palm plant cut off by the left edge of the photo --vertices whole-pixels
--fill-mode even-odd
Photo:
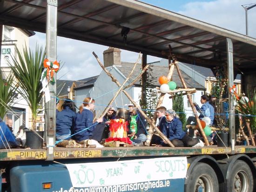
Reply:
[[[6,78],[0,71],[0,118],[4,119],[7,111],[13,106],[16,99],[17,86],[13,79],[13,73],[10,72]]]

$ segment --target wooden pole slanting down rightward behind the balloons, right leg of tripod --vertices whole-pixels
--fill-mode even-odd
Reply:
[[[178,66],[178,62],[175,63],[175,66],[176,66],[177,72],[178,72],[178,74],[179,74],[179,77],[180,77],[180,79],[181,79],[181,81],[182,81],[182,85],[184,86],[185,89],[187,89],[188,87],[186,86],[186,83],[185,83],[185,81],[184,81],[184,79],[183,79],[183,77],[182,77],[182,73],[181,73],[180,68],[179,68],[179,66]],[[192,111],[193,111],[193,113],[194,113],[194,115],[195,115],[196,123],[197,123],[197,125],[199,126],[199,129],[200,129],[202,138],[203,138],[203,140],[204,140],[206,146],[209,146],[209,141],[208,141],[208,139],[207,139],[205,133],[204,133],[203,130],[202,130],[202,125],[201,125],[200,120],[199,120],[199,118],[198,118],[197,111],[195,110],[195,106],[194,106],[194,104],[193,104],[191,95],[189,95],[189,93],[188,93],[188,94],[187,94],[187,97],[188,97],[188,99],[189,99],[189,104],[190,104],[190,106],[192,107]]]

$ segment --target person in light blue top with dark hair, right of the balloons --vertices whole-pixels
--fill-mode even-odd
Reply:
[[[195,109],[200,113],[199,119],[209,117],[212,125],[214,120],[214,108],[209,104],[209,97],[207,95],[202,95],[200,102],[203,104],[201,108],[194,103]]]

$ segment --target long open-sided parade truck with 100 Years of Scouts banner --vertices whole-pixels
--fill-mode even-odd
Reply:
[[[234,72],[242,72],[245,91],[255,86],[256,39],[136,0],[0,0],[0,25],[47,33],[50,61],[56,60],[58,32],[62,37],[144,55],[175,56],[212,69],[224,66],[228,87],[234,84]],[[63,148],[54,145],[55,96],[50,90],[44,130],[47,146],[1,149],[0,191],[256,191],[256,147],[236,146],[231,93],[227,146],[208,146],[205,141],[206,146],[195,148]]]

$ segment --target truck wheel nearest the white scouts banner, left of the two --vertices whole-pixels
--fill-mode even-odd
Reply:
[[[197,163],[186,178],[185,192],[218,192],[215,171],[206,163]]]

